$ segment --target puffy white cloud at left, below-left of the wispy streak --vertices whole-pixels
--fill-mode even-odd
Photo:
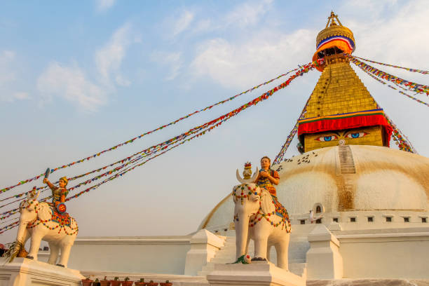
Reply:
[[[46,101],[53,96],[63,97],[86,111],[97,110],[107,100],[106,92],[88,81],[76,64],[65,67],[58,62],[51,62],[37,79],[37,88]]]

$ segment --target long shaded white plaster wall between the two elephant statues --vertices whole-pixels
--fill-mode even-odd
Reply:
[[[191,236],[77,238],[71,248],[69,268],[184,274],[190,240]]]

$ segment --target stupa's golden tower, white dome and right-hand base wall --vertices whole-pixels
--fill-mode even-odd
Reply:
[[[290,269],[308,279],[429,278],[429,158],[389,147],[384,111],[344,55],[354,48],[331,13],[313,55],[322,74],[299,120],[304,154],[272,167],[292,223]],[[226,196],[199,229],[233,235],[224,231],[232,211]]]

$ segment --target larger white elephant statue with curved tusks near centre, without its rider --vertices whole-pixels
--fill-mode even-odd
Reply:
[[[290,240],[290,221],[287,212],[266,189],[251,179],[237,179],[242,183],[233,187],[234,224],[236,229],[236,258],[247,254],[250,239],[254,240],[254,260],[269,260],[271,246],[277,252],[278,267],[288,271],[287,250]]]

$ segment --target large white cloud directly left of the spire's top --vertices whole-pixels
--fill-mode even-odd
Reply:
[[[211,39],[198,47],[191,62],[194,76],[210,76],[229,88],[244,88],[306,63],[314,50],[315,31],[282,34],[264,29],[245,41]]]

